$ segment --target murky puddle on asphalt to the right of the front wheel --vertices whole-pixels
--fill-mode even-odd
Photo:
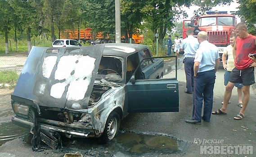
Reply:
[[[189,147],[188,142],[175,140],[168,136],[161,135],[144,135],[135,133],[118,134],[116,142],[109,148],[112,150],[123,149],[121,152],[129,154],[145,154],[145,153],[182,153]]]

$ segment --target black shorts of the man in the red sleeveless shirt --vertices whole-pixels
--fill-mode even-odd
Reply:
[[[254,67],[238,70],[236,67],[229,76],[231,83],[243,83],[244,86],[250,86],[255,83]]]

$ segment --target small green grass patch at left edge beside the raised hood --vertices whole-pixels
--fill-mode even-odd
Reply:
[[[9,88],[13,89],[18,81],[19,75],[16,71],[0,71],[0,83],[9,84]]]

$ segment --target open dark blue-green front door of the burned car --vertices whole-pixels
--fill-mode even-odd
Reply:
[[[177,80],[177,58],[176,57],[153,57],[166,58],[156,59],[153,64],[162,64],[163,67],[148,66],[154,71],[163,72],[159,79],[135,79],[134,76],[126,84],[128,90],[128,112],[179,112],[179,85]],[[162,62],[162,63],[159,63]],[[175,63],[174,63],[175,61]],[[171,64],[175,64],[175,70],[171,71]],[[144,68],[143,71],[146,69]],[[136,70],[141,68],[137,67]],[[135,70],[135,71],[136,71]],[[150,70],[150,69],[149,69]],[[169,71],[168,71],[169,70]],[[148,70],[147,70],[148,71]],[[159,72],[157,72],[159,73]],[[160,74],[159,74],[160,75]]]

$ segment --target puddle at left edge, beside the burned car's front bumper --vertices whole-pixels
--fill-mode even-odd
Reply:
[[[9,140],[27,134],[29,129],[9,123],[0,123],[0,146]]]

